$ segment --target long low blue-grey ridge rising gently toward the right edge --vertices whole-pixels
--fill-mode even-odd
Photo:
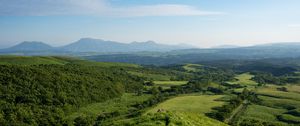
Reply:
[[[300,43],[275,43],[240,48],[182,49],[152,54],[130,53],[93,55],[85,58],[105,62],[126,62],[144,65],[168,65],[222,60],[259,60],[300,58]]]

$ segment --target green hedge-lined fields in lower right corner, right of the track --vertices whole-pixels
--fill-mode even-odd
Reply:
[[[289,113],[298,114],[297,111],[300,109],[300,93],[297,90],[299,86],[284,86],[287,87],[288,92],[278,91],[277,88],[279,87],[283,86],[267,85],[258,88],[256,92],[261,103],[249,105],[239,120],[260,120],[274,125],[297,124],[300,113],[298,116]]]

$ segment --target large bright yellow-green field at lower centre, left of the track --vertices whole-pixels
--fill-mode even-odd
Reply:
[[[176,112],[190,112],[204,114],[211,111],[213,107],[222,106],[224,102],[215,101],[223,95],[199,95],[199,96],[179,96],[158,104],[148,113],[155,113],[159,109]]]

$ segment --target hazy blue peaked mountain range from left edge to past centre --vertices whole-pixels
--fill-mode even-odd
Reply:
[[[1,49],[2,54],[74,54],[74,53],[124,53],[124,52],[166,52],[178,49],[193,48],[188,45],[164,45],[154,41],[121,43],[102,39],[82,38],[74,43],[53,47],[43,42],[25,41],[10,48]]]

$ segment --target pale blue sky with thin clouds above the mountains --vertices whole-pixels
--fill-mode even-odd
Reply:
[[[80,38],[195,47],[300,42],[300,0],[0,0],[0,48]]]

